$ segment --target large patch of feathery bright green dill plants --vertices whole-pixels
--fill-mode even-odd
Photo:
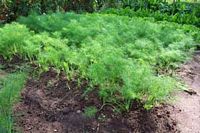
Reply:
[[[86,79],[98,88],[103,104],[126,111],[133,100],[145,108],[167,100],[177,82],[160,70],[176,68],[196,47],[181,28],[137,17],[55,13],[18,22],[0,29],[5,34],[0,51],[10,51],[0,55],[18,55],[41,71],[55,68],[71,79]]]

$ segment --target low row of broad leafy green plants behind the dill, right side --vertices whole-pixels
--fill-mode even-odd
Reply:
[[[199,6],[200,7],[200,6]],[[129,16],[129,17],[151,17],[154,18],[156,21],[169,21],[169,22],[176,22],[179,24],[190,24],[196,27],[200,27],[200,16],[198,14],[190,13],[190,12],[177,12],[174,15],[170,15],[169,12],[157,10],[146,10],[140,9],[137,11],[132,10],[131,8],[109,8],[102,10],[101,13],[105,14],[117,14],[121,16]]]

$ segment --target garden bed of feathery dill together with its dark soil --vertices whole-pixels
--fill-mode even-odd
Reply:
[[[167,103],[182,87],[175,70],[198,47],[196,30],[185,28],[98,13],[32,14],[6,24],[0,28],[2,70],[23,74],[10,78],[2,90],[12,92],[9,83],[15,80],[17,98],[24,89],[14,107],[15,126],[8,106],[2,118],[10,126],[3,129],[180,132],[173,115],[182,110]]]

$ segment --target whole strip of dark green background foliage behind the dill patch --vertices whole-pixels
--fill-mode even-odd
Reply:
[[[200,26],[200,4],[198,1],[180,0],[1,0],[0,20],[15,20],[18,16],[27,16],[30,12],[39,14],[55,11],[94,12],[108,8],[130,8],[126,13],[142,17],[154,17],[181,24]],[[113,12],[113,11],[112,11]],[[116,12],[115,12],[116,13]]]

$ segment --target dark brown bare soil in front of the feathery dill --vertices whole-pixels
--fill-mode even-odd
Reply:
[[[144,110],[134,103],[128,113],[116,114],[105,106],[94,118],[84,115],[84,108],[101,108],[101,100],[93,91],[83,97],[88,83],[68,81],[63,74],[49,71],[39,79],[30,78],[15,106],[16,129],[23,133],[175,133],[176,122],[168,106]],[[80,87],[79,87],[80,86]]]

